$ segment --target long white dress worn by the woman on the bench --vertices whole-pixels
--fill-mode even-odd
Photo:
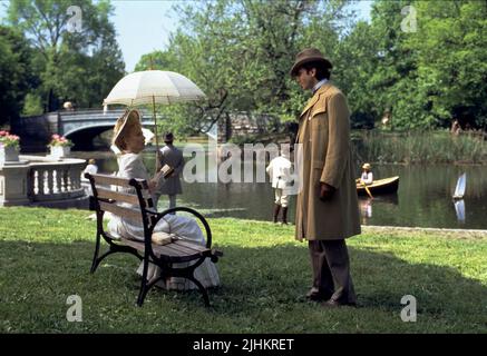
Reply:
[[[142,160],[140,155],[124,154],[118,157],[118,177],[123,178],[140,178],[149,180],[147,169]],[[128,205],[128,204],[124,204]],[[128,205],[129,206],[129,205]],[[136,225],[133,221],[125,220],[120,217],[110,215],[108,221],[108,230],[114,237],[121,237],[144,240],[144,227]],[[177,215],[166,215],[160,219],[154,231],[164,231],[168,234],[176,234],[184,236],[188,240],[196,241],[201,245],[205,245],[205,237],[197,225],[196,220],[189,217],[183,217]],[[173,267],[186,267],[192,263],[174,264]],[[142,276],[143,264],[137,269],[137,274]],[[160,275],[160,268],[149,264],[147,279],[152,280]],[[195,269],[194,276],[204,287],[214,287],[220,285],[220,277],[216,270],[215,264],[208,258]],[[166,289],[194,289],[195,284],[186,278],[173,277],[171,280],[159,280],[157,286]]]

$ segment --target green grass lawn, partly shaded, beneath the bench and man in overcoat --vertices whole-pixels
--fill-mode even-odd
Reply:
[[[90,212],[0,209],[0,333],[486,333],[487,237],[367,229],[349,239],[358,308],[304,301],[311,283],[305,244],[293,226],[210,219],[224,251],[222,286],[210,291],[150,290],[142,308],[138,260],[113,255],[95,275]],[[66,300],[82,299],[69,323]],[[400,318],[417,298],[416,323]]]

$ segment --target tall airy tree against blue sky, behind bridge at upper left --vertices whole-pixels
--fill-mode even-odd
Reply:
[[[109,1],[76,4],[79,12],[70,12],[77,11],[70,0],[12,0],[8,8],[9,23],[36,49],[32,69],[41,80],[30,100],[41,98],[45,111],[59,109],[65,100],[98,107],[124,76]]]

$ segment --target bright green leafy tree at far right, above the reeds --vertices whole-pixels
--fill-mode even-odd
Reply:
[[[416,52],[418,87],[430,121],[487,127],[487,2],[417,1],[418,31],[406,46]]]

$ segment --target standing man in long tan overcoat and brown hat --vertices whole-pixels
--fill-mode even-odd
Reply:
[[[299,119],[295,237],[309,244],[313,285],[306,297],[342,306],[357,303],[345,238],[361,231],[350,111],[344,95],[329,82],[331,68],[310,48],[296,56],[291,69],[302,89],[313,95]]]

